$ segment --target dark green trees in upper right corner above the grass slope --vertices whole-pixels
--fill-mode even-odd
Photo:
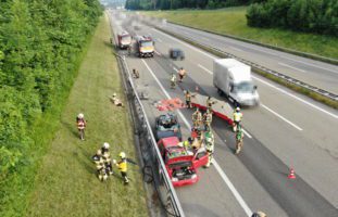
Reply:
[[[254,27],[338,36],[337,0],[267,0],[248,8],[247,22]]]

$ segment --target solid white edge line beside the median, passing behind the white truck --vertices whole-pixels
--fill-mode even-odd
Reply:
[[[167,34],[164,34],[164,33],[162,33],[162,31],[159,31],[158,29],[154,29],[154,28],[153,28],[153,30],[155,30],[155,31],[158,31],[158,33],[160,33],[160,34],[162,34],[162,35],[164,35],[164,36],[166,36],[166,37],[168,37],[168,38],[172,38],[173,40],[178,41],[179,43],[185,44],[185,46],[187,46],[188,48],[191,48],[192,50],[196,50],[196,51],[198,51],[198,52],[200,52],[200,53],[203,53],[204,55],[211,58],[212,60],[216,60],[214,56],[210,55],[209,53],[203,52],[203,51],[201,51],[201,50],[199,50],[199,49],[197,49],[197,48],[195,48],[195,47],[192,47],[192,46],[190,46],[190,44],[188,44],[188,43],[186,43],[186,42],[183,42],[183,41],[178,40],[177,38],[174,38],[173,36],[170,36],[170,35],[167,35]],[[324,68],[323,68],[323,69],[324,69]],[[335,117],[336,119],[338,119],[338,115],[335,115],[335,114],[333,114],[333,113],[330,113],[330,112],[327,112],[326,110],[324,110],[324,108],[322,108],[322,107],[320,107],[320,106],[317,106],[317,105],[314,105],[314,104],[308,102],[306,100],[303,100],[303,99],[301,99],[301,98],[299,98],[299,97],[296,97],[295,94],[289,93],[289,92],[286,91],[286,90],[283,90],[283,89],[280,89],[280,88],[277,88],[277,87],[275,87],[274,85],[272,85],[272,84],[270,84],[270,82],[267,82],[267,81],[265,81],[265,80],[262,80],[262,79],[260,79],[260,78],[258,78],[258,77],[255,77],[255,76],[252,76],[252,77],[253,77],[254,79],[256,79],[256,80],[259,80],[259,81],[261,81],[261,82],[263,82],[263,84],[265,84],[265,85],[267,85],[267,86],[270,86],[270,87],[273,87],[274,89],[276,89],[276,90],[278,90],[278,91],[280,91],[280,92],[283,92],[283,93],[285,93],[285,94],[287,94],[287,95],[289,95],[289,97],[291,97],[291,98],[293,98],[293,99],[296,99],[296,100],[298,100],[298,101],[300,101],[300,102],[302,102],[302,103],[304,103],[304,104],[306,104],[306,105],[309,105],[309,106],[311,106],[311,107],[313,107],[313,108],[315,108],[315,110],[317,110],[317,111],[321,111],[321,112],[323,112],[323,113],[325,113],[325,114],[328,114],[328,115]]]

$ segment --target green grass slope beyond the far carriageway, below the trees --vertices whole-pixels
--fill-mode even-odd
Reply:
[[[315,34],[295,33],[277,28],[254,28],[247,26],[247,8],[223,10],[150,11],[142,14],[163,17],[173,23],[231,35],[270,46],[281,47],[314,55],[338,59],[338,38]]]

